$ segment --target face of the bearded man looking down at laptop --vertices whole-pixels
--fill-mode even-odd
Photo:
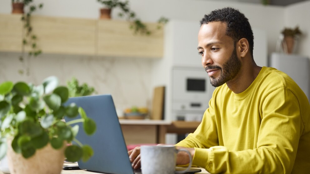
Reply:
[[[233,80],[241,69],[235,43],[226,34],[226,23],[209,22],[200,27],[198,52],[202,56],[202,66],[214,87]]]

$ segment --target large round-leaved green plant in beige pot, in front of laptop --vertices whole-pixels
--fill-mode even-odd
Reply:
[[[11,81],[0,85],[0,158],[7,154],[11,173],[59,174],[64,157],[75,162],[93,155],[90,146],[75,139],[78,125],[71,127],[63,118],[80,114],[81,118],[73,121],[83,122],[88,135],[95,132],[96,124],[82,108],[65,104],[69,91],[58,83],[58,78],[51,76],[37,86]]]

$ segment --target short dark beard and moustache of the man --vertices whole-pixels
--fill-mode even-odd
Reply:
[[[209,69],[220,69],[221,74],[219,77],[214,78],[213,76],[210,76],[210,83],[214,87],[218,87],[223,85],[229,80],[234,79],[237,74],[240,72],[241,69],[241,61],[237,57],[237,51],[234,49],[232,51],[232,54],[230,55],[230,58],[224,63],[223,67],[220,66],[207,66],[205,70]]]

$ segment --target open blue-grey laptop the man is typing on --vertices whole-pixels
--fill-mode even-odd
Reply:
[[[112,96],[106,94],[73,97],[69,98],[65,105],[70,103],[82,107],[87,116],[92,118],[97,125],[96,132],[88,136],[83,131],[82,123],[77,123],[79,132],[76,139],[82,144],[90,145],[94,151],[94,155],[87,162],[78,161],[79,168],[109,174],[141,174],[141,170],[133,170],[129,161],[126,143]],[[65,121],[68,122],[80,117],[80,115],[76,118],[65,117]],[[73,142],[73,144],[76,143]],[[191,172],[200,171],[196,169]]]

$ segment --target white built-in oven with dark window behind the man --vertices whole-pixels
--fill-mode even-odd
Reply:
[[[201,68],[173,68],[173,119],[200,121],[215,89]]]

